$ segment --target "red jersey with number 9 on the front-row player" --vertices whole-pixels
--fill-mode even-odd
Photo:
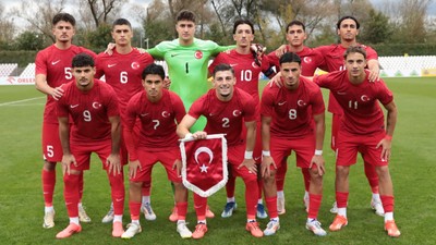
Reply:
[[[88,91],[77,88],[75,82],[63,86],[64,95],[58,101],[58,117],[71,115],[71,142],[89,143],[111,138],[110,117],[118,117],[118,100],[112,87],[94,79]]]

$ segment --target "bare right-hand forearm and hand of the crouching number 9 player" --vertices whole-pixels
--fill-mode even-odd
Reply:
[[[109,117],[110,122],[110,135],[111,135],[111,152],[106,160],[106,164],[109,167],[109,173],[113,172],[113,175],[121,173],[121,161],[120,161],[120,139],[121,139],[121,125],[120,117]]]

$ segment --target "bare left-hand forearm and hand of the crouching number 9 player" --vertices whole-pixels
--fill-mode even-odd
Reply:
[[[61,140],[62,152],[63,152],[62,172],[63,172],[63,174],[70,174],[71,173],[71,169],[70,169],[71,163],[77,166],[77,162],[75,161],[75,158],[71,154],[71,150],[70,150],[69,118],[61,117],[61,118],[58,118],[58,121],[59,121],[59,138]]]

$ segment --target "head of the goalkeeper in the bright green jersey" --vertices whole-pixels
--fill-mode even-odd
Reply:
[[[175,19],[175,30],[179,40],[183,44],[191,44],[195,34],[195,14],[189,10],[180,11]]]

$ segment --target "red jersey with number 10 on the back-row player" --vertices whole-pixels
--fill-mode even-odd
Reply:
[[[267,71],[269,68],[269,62],[267,58],[263,59],[262,66],[258,66],[254,62],[252,53],[241,54],[237,52],[235,49],[230,51],[220,52],[214,62],[209,65],[209,73],[214,73],[215,66],[220,63],[230,64],[234,70],[234,76],[237,78],[235,87],[249,93],[253,96],[256,105],[259,103],[259,93],[258,93],[258,77],[261,72]]]

